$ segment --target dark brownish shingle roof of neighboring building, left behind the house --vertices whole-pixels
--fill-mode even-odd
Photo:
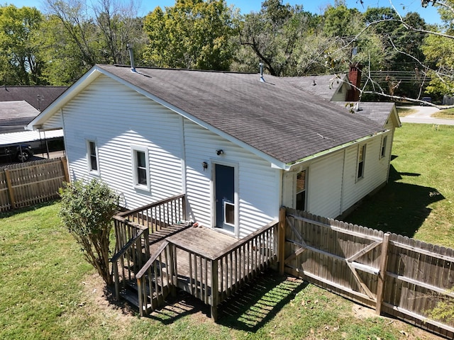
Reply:
[[[67,86],[1,86],[0,101],[26,101],[43,111],[62,94]]]

